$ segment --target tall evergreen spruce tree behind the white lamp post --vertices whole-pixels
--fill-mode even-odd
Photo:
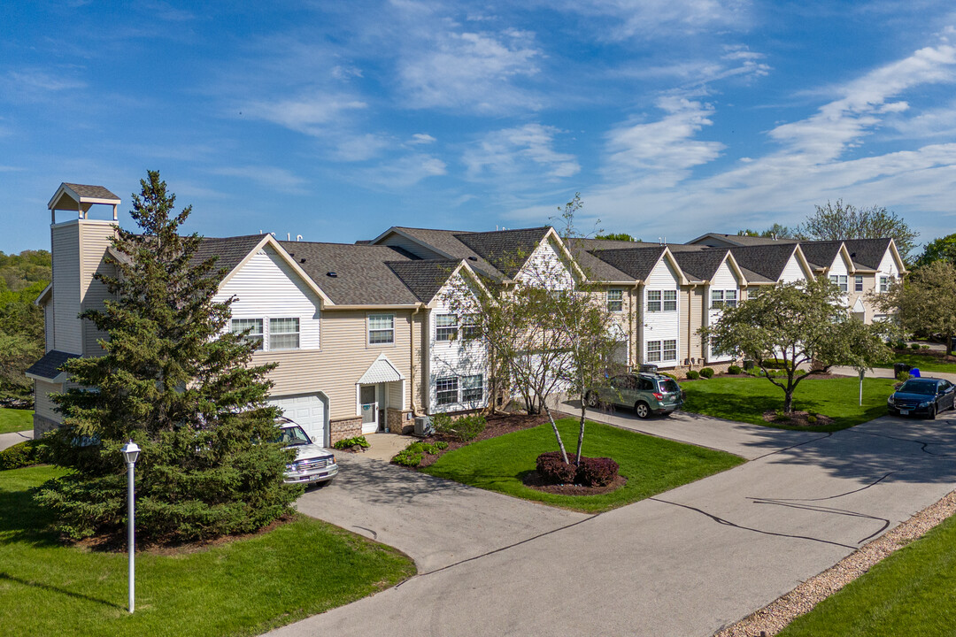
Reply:
[[[133,196],[141,234],[120,229],[108,257],[114,294],[81,316],[108,334],[105,354],[66,364],[76,389],[54,396],[64,426],[50,438],[54,463],[72,469],[37,494],[64,537],[120,534],[126,477],[120,447],[132,438],[137,534],[194,541],[254,531],[290,511],[298,486],[283,483],[293,452],[266,400],[274,365],[250,364],[253,346],[228,330],[232,300],[214,296],[223,272],[203,259],[198,235],[180,236],[191,206],[156,171]]]

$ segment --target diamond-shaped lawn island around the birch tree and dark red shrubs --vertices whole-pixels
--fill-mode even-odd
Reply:
[[[558,430],[569,454],[573,453],[577,443],[576,419],[559,420]],[[617,491],[600,496],[559,496],[525,486],[521,479],[534,469],[534,459],[557,449],[549,423],[456,449],[423,471],[517,498],[599,513],[744,462],[743,458],[724,452],[635,434],[609,425],[589,422],[584,431],[584,456],[612,457],[620,465],[620,475],[627,478],[627,484]]]

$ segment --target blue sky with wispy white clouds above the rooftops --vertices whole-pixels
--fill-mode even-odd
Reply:
[[[575,192],[652,241],[838,198],[956,231],[951,1],[14,2],[0,36],[6,252],[49,247],[60,181],[125,213],[147,169],[206,236],[538,225]]]

